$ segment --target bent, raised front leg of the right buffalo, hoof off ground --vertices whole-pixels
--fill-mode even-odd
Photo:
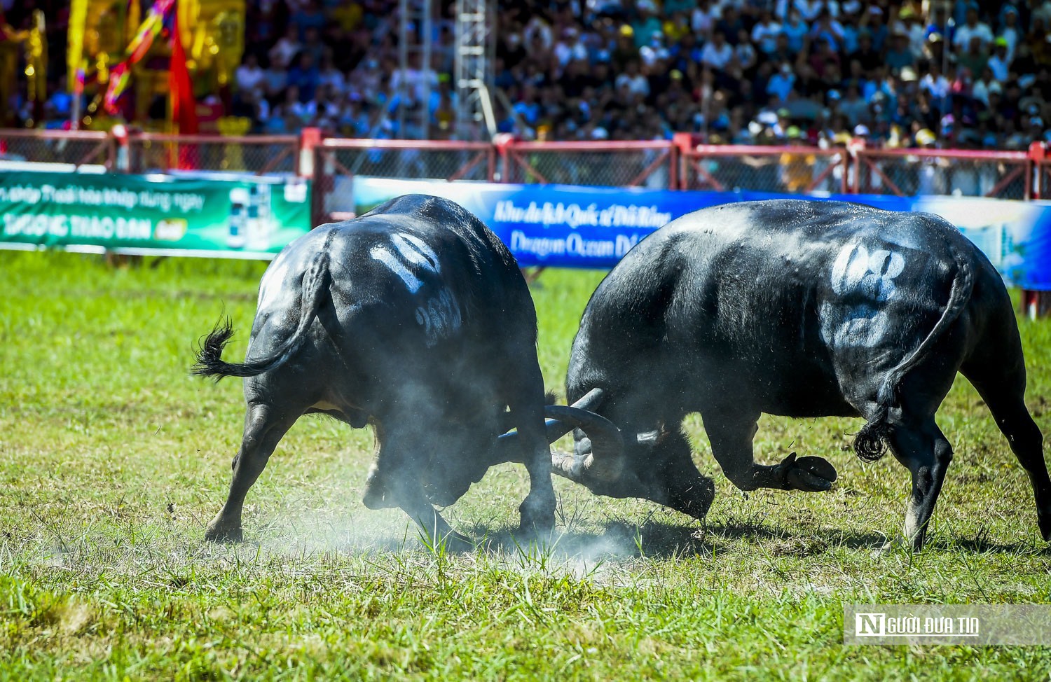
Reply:
[[[758,488],[826,491],[836,480],[836,468],[821,457],[789,454],[779,464],[757,464],[753,439],[759,412],[709,410],[701,413],[704,431],[723,475],[743,491]]]

